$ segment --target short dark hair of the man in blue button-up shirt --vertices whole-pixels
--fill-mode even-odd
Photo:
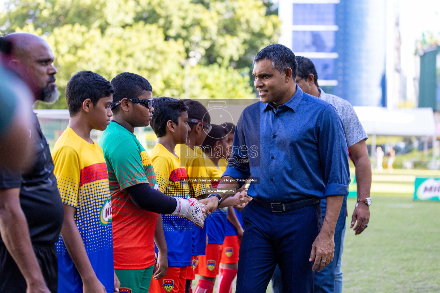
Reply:
[[[297,76],[297,60],[295,54],[288,47],[281,44],[272,44],[257,53],[253,58],[253,64],[263,59],[272,60],[273,68],[277,69],[281,75],[287,67],[292,69],[293,79]]]

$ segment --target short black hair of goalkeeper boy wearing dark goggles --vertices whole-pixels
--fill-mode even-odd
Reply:
[[[113,102],[121,101],[123,98],[137,98],[144,91],[153,91],[150,82],[144,77],[131,72],[122,72],[111,80],[114,87]],[[117,113],[121,107],[116,106],[112,109]]]

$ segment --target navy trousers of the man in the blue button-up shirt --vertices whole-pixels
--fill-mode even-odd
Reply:
[[[273,213],[251,200],[242,213],[245,232],[240,244],[236,293],[266,292],[278,264],[284,292],[313,290],[312,244],[321,228],[319,203]]]

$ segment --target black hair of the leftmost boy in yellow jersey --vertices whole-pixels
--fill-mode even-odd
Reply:
[[[65,91],[70,116],[80,111],[86,99],[96,105],[100,98],[109,97],[113,93],[113,86],[98,73],[86,70],[75,73],[67,82]]]

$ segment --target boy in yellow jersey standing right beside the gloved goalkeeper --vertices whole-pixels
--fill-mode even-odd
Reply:
[[[159,140],[150,154],[159,190],[172,198],[189,199],[201,210],[202,205],[189,198],[187,172],[174,152],[176,144],[187,140],[190,130],[188,106],[181,100],[161,97],[154,99],[154,107],[151,128]],[[191,230],[194,224],[173,215],[162,215],[162,219],[169,268],[164,278],[151,280],[150,290],[154,293],[184,293],[187,267],[191,265]]]

